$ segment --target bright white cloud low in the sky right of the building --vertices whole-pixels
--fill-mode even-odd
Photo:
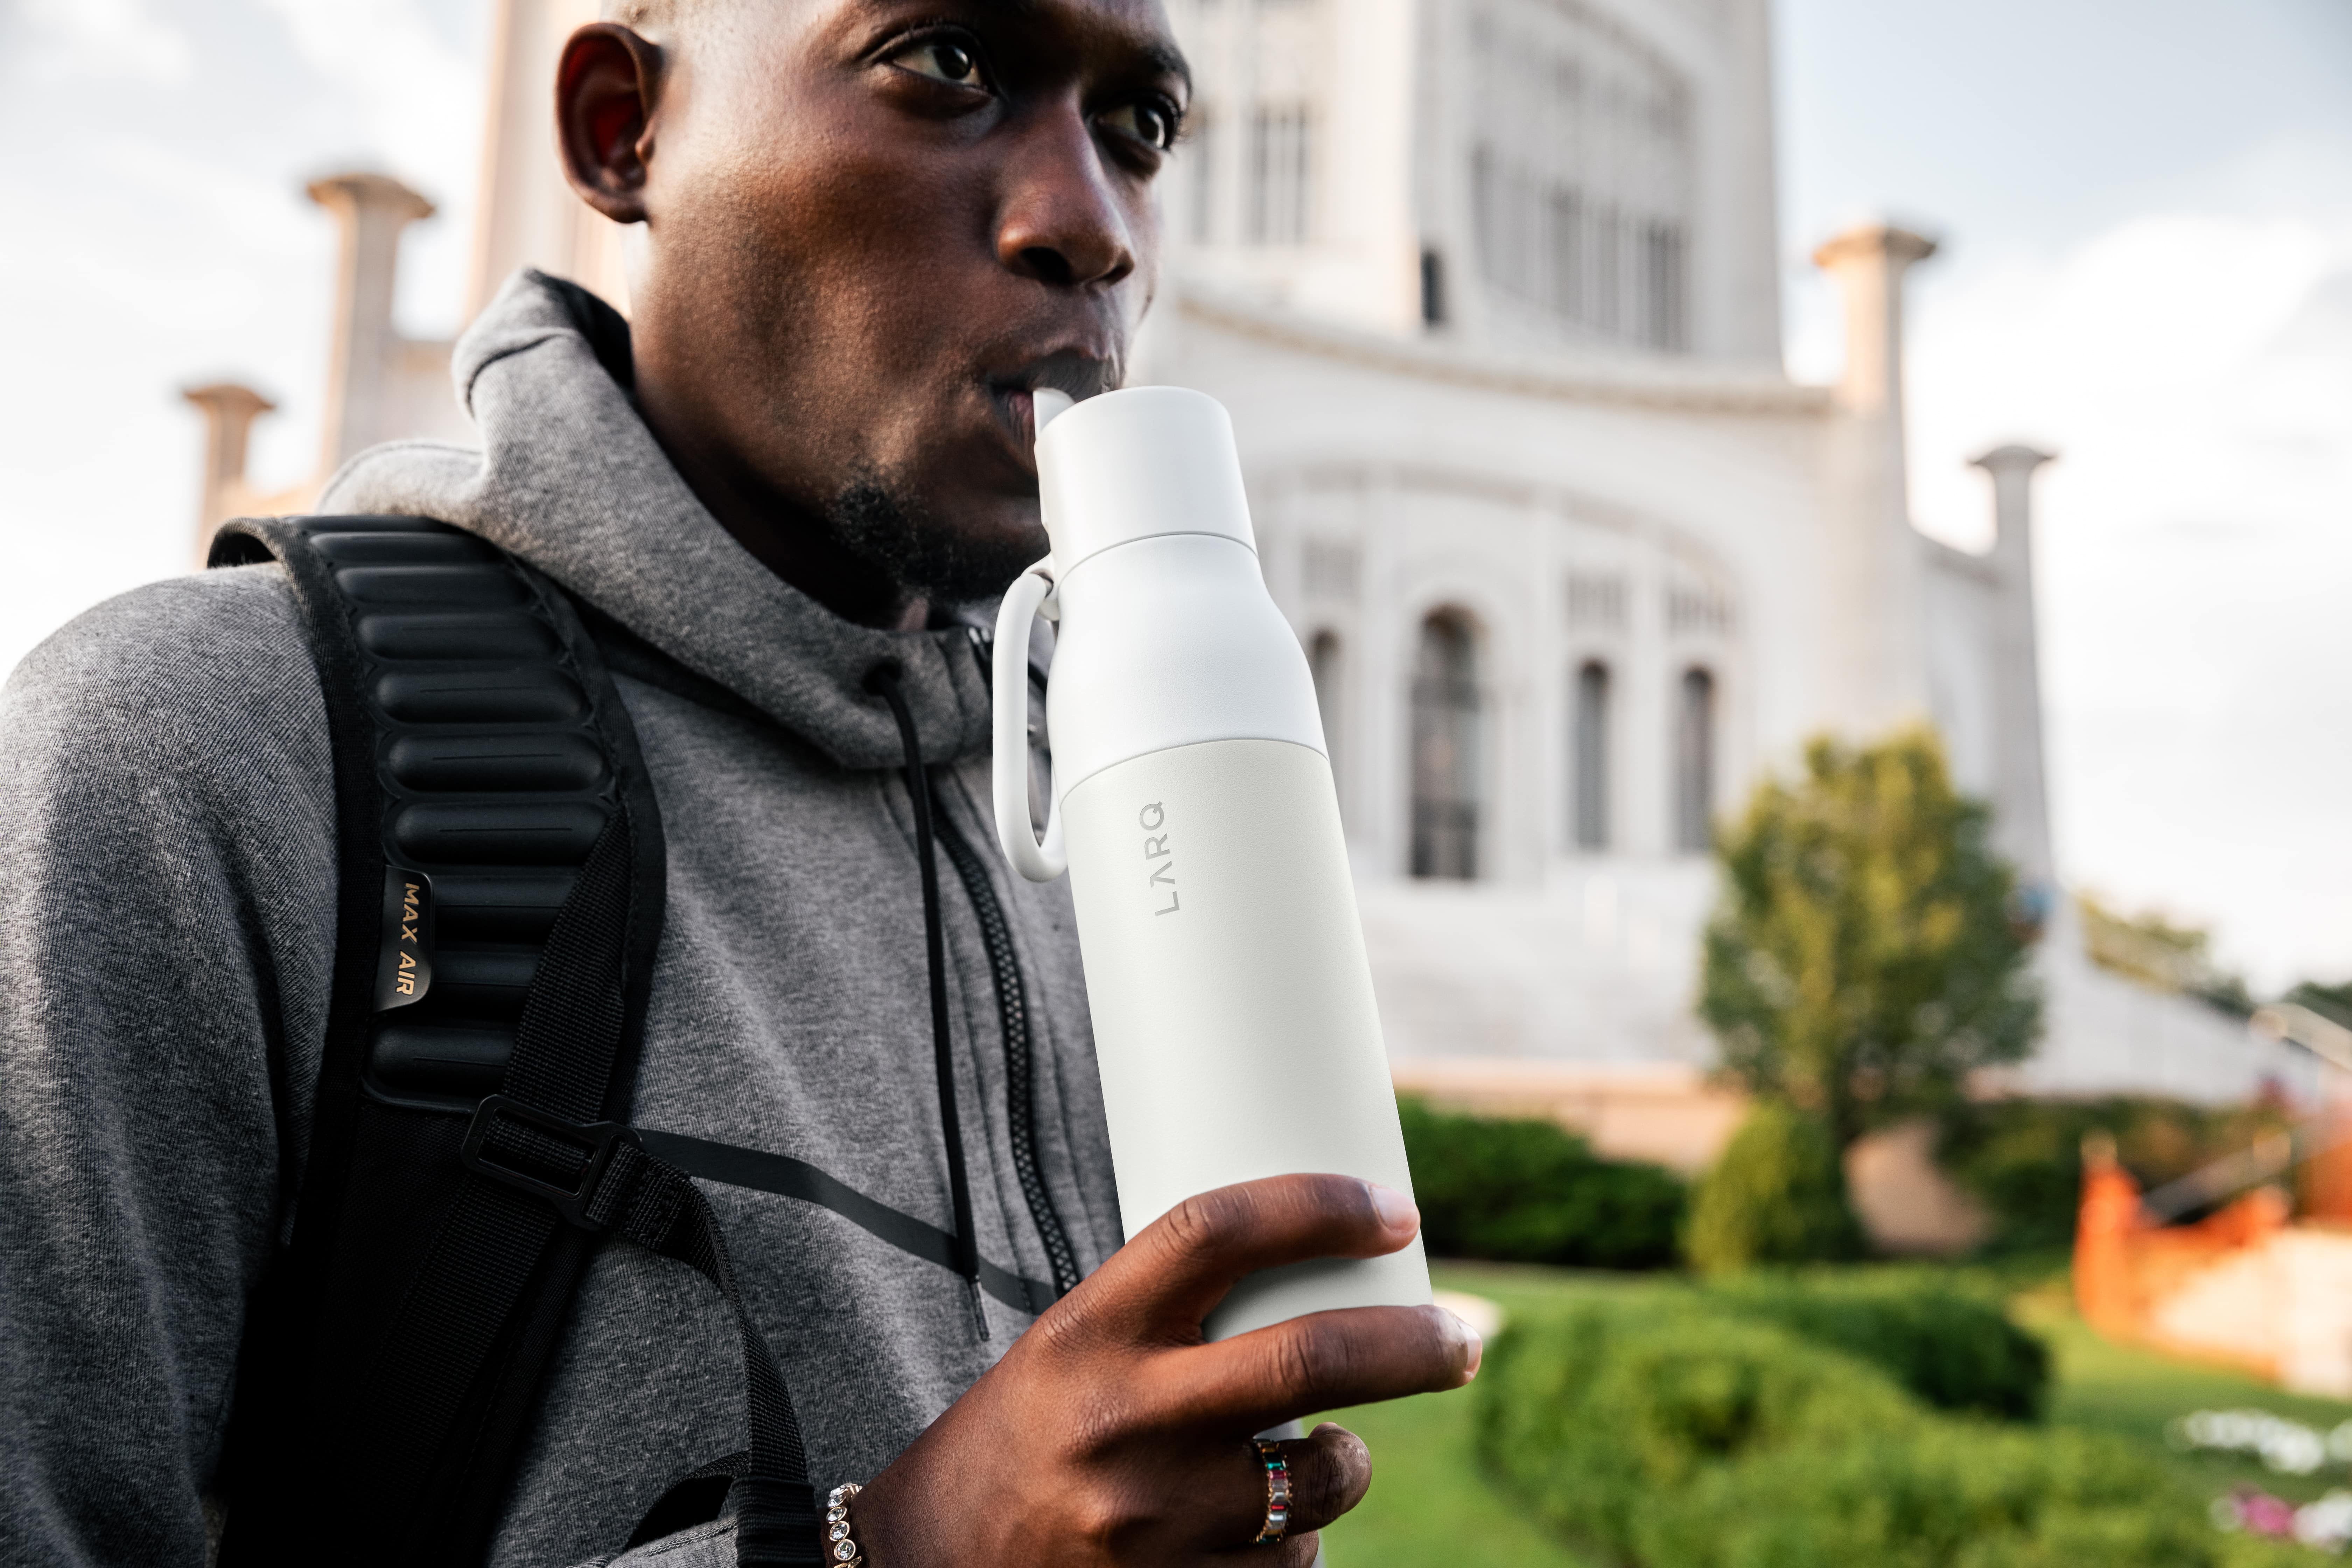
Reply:
[[[1799,329],[1818,357],[1818,336]],[[1792,353],[1797,357],[1797,353]],[[2183,207],[1919,275],[1912,510],[2037,496],[2067,877],[2218,922],[2263,983],[2352,971],[2352,202]]]

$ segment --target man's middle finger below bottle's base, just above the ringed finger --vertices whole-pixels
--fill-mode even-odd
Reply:
[[[1458,1389],[1482,1354],[1444,1307],[1350,1307],[1167,1356],[1152,1392],[1188,1420],[1263,1432],[1312,1410]]]

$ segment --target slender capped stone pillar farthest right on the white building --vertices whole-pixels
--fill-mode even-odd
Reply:
[[[2056,912],[2049,785],[2042,764],[2042,654],[2034,630],[2034,470],[2051,461],[2032,447],[1994,447],[1976,468],[1992,475],[1992,846],[2018,867],[2018,889]]]

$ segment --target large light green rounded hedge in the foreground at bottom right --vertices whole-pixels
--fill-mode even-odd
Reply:
[[[2253,1568],[2122,1439],[1950,1418],[1710,1295],[1526,1319],[1486,1352],[1479,1455],[1625,1568]],[[2303,1559],[2307,1561],[2307,1559]]]

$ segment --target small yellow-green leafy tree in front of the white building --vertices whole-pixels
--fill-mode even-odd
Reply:
[[[1818,1114],[1844,1150],[2020,1060],[2042,1001],[1987,827],[1926,729],[1816,738],[1802,778],[1757,785],[1717,844],[1705,938],[1698,1011],[1724,1074]]]

